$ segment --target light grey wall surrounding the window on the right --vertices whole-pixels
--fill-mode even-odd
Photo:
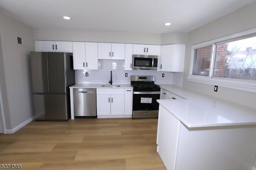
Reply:
[[[244,6],[233,13],[219,18],[209,24],[202,26],[188,33],[188,44],[186,45],[185,65],[183,87],[194,91],[202,92],[214,97],[226,99],[242,105],[256,108],[256,94],[235,90],[225,87],[218,87],[218,92],[214,92],[213,85],[206,85],[188,81],[186,77],[189,75],[191,45],[205,42],[236,32],[241,32],[256,27],[256,2]]]

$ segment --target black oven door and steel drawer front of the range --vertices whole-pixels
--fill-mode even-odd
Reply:
[[[133,92],[132,117],[133,118],[150,118],[158,117],[160,91],[156,92]]]

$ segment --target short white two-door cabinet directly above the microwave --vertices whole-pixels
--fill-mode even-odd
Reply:
[[[160,45],[133,44],[133,54],[160,55]]]

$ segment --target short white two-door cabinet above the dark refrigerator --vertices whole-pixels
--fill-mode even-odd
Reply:
[[[62,41],[35,41],[36,51],[40,52],[67,52],[72,53],[72,42]]]

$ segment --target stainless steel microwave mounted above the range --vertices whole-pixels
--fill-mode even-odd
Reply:
[[[157,69],[157,55],[133,55],[133,69]]]

